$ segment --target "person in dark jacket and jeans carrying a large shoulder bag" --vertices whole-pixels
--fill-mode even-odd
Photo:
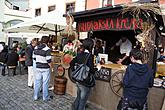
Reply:
[[[90,68],[89,76],[93,75],[96,71],[94,68],[94,56],[91,54],[94,42],[92,39],[87,38],[83,41],[84,49],[80,51],[77,56],[71,61],[70,66],[71,70],[73,70],[76,63],[82,64],[84,63],[84,59],[87,55],[90,55],[87,60],[87,66]],[[91,88],[95,85],[95,79],[87,78],[85,81],[76,82],[77,85],[77,97],[72,104],[73,110],[85,110],[85,105],[88,100]]]

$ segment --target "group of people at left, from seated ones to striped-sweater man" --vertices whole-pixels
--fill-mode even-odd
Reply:
[[[44,101],[52,98],[48,94],[50,68],[52,69],[51,49],[47,46],[48,41],[48,36],[43,36],[40,42],[34,38],[24,49],[19,44],[14,45],[10,49],[4,43],[0,44],[0,69],[2,76],[15,76],[18,73],[24,74],[25,71],[22,71],[22,68],[26,69],[28,71],[27,86],[34,89],[33,100],[38,100],[41,90]]]

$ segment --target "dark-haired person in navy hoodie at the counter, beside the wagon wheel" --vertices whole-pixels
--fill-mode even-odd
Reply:
[[[147,64],[142,63],[142,52],[133,49],[129,65],[123,79],[123,99],[118,105],[118,110],[148,110],[147,95],[149,88],[153,86],[153,71]]]

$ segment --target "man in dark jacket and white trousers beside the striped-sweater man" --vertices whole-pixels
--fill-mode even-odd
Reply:
[[[33,39],[31,43],[25,49],[25,65],[28,67],[28,86],[33,88],[34,73],[33,73],[33,50],[37,45],[37,39]]]

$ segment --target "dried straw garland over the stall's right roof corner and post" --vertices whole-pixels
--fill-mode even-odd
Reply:
[[[155,28],[155,22],[157,21],[156,15],[161,15],[161,10],[158,4],[154,3],[133,3],[128,4],[122,10],[122,14],[129,14],[133,18],[140,21],[140,17],[144,16],[147,21],[142,23],[141,33],[135,38],[141,44],[141,50],[143,51],[145,62],[148,62],[151,51],[155,48],[154,36],[152,35],[152,30]],[[140,24],[140,22],[138,23]]]

